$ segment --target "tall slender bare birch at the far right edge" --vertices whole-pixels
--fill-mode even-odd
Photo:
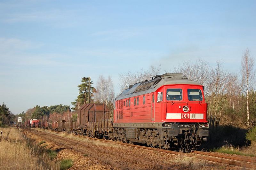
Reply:
[[[249,90],[253,88],[253,81],[255,80],[255,70],[254,70],[254,58],[250,57],[250,51],[247,48],[244,50],[244,54],[242,56],[242,61],[241,61],[241,74],[242,74],[242,85],[243,85],[243,90],[244,93],[246,93],[246,107],[247,107],[247,112],[246,112],[246,125],[249,126]]]

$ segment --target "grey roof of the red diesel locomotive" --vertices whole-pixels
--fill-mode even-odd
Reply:
[[[169,84],[193,84],[203,86],[199,82],[189,80],[187,77],[183,76],[183,73],[165,73],[163,75],[154,76],[154,79],[150,81],[141,81],[129,86],[129,89],[125,89],[116,97],[116,100],[152,93],[161,86]]]

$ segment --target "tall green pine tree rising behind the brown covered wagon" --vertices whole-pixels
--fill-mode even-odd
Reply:
[[[90,103],[93,102],[92,100],[92,92],[95,90],[94,87],[92,87],[93,82],[90,82]],[[71,109],[73,111],[77,111],[80,106],[82,106],[84,103],[88,103],[88,92],[89,92],[89,79],[87,77],[83,77],[81,84],[78,86],[78,96],[75,102],[71,102],[71,104],[74,106]],[[85,100],[84,100],[85,99]]]

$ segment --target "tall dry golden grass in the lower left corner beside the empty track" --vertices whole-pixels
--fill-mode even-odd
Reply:
[[[30,141],[18,129],[0,128],[1,169],[60,169],[58,162],[51,161],[42,147]]]

